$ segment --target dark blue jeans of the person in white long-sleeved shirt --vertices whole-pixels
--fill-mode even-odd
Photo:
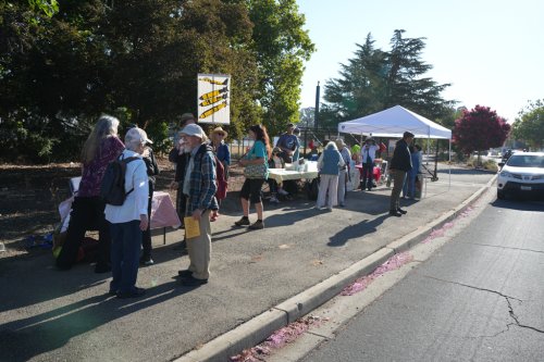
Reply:
[[[111,230],[111,274],[110,290],[131,292],[136,289],[141,230],[139,220],[110,224]]]

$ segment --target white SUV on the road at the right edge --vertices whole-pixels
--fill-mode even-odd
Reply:
[[[498,173],[497,199],[508,194],[544,195],[544,152],[514,153]]]

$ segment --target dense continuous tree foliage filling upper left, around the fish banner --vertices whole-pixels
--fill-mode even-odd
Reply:
[[[198,73],[232,75],[234,137],[294,121],[313,50],[302,25],[294,0],[0,3],[0,139],[22,158],[73,158],[98,115],[120,113],[163,145],[196,113]]]

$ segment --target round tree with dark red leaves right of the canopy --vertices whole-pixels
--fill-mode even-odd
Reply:
[[[502,147],[510,133],[510,125],[489,107],[477,105],[462,111],[455,121],[453,141],[466,154]]]

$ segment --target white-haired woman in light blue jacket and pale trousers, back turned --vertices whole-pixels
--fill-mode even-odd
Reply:
[[[318,168],[320,173],[319,194],[317,209],[325,205],[332,211],[333,207],[338,204],[338,174],[339,168],[345,165],[344,160],[336,147],[336,143],[330,141],[326,143],[323,153],[318,160]],[[329,197],[327,197],[329,195]]]

